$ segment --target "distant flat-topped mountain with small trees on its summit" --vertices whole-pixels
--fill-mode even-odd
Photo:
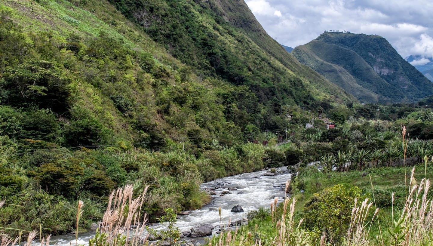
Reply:
[[[433,84],[377,35],[325,32],[291,53],[362,102],[415,102]]]

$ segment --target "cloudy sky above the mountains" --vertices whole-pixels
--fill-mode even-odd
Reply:
[[[433,57],[432,0],[245,1],[271,37],[293,48],[324,30],[346,30],[380,35],[403,58]]]

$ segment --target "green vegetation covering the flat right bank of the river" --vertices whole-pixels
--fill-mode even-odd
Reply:
[[[368,116],[369,108],[373,114]],[[386,120],[398,111],[401,118]],[[213,244],[430,244],[432,210],[427,204],[433,193],[425,179],[433,177],[431,109],[370,104],[340,108],[331,119],[348,112],[355,117],[343,117],[336,129],[305,129],[292,135],[291,144],[273,149],[299,165],[287,186],[296,202],[250,213],[248,226]]]

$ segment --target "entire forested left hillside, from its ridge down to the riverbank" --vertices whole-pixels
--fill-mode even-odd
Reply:
[[[297,128],[308,121],[299,106],[356,102],[260,26],[246,35],[246,13],[216,11],[228,5],[136,1],[136,13],[127,3],[1,2],[0,201],[9,205],[0,227],[8,233],[70,232],[78,200],[79,227],[89,228],[108,192],[125,184],[150,186],[151,220],[166,207],[200,207],[208,201],[200,182],[269,165],[266,148],[248,142],[282,132],[288,113]]]

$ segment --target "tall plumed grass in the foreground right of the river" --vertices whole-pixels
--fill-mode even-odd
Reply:
[[[255,238],[252,235],[261,234],[257,230],[257,225],[249,230],[236,229],[233,232],[227,232],[225,235],[220,236],[219,240],[213,240],[211,244],[216,246],[328,246],[328,245],[341,245],[341,246],[388,246],[388,245],[404,245],[404,246],[419,246],[419,245],[432,245],[433,244],[433,199],[429,199],[430,180],[423,178],[417,183],[414,178],[415,169],[412,169],[410,177],[409,192],[404,206],[401,209],[394,207],[394,194],[391,199],[392,217],[388,223],[388,230],[379,230],[378,236],[373,238],[370,233],[372,228],[380,226],[378,218],[379,208],[376,208],[374,203],[367,198],[361,203],[355,200],[355,205],[352,208],[351,219],[346,236],[343,240],[336,240],[328,238],[326,233],[318,233],[301,229],[299,223],[294,220],[294,208],[296,199],[285,198],[282,202],[282,212],[280,217],[276,217],[277,211],[275,210],[275,203],[271,203],[271,222],[275,230],[267,230],[268,238],[272,240],[265,240],[262,238]],[[400,214],[394,220],[395,214]],[[329,225],[338,227],[338,225]],[[246,227],[248,228],[248,227]],[[376,235],[376,234],[374,234]],[[263,241],[265,240],[265,241]]]

